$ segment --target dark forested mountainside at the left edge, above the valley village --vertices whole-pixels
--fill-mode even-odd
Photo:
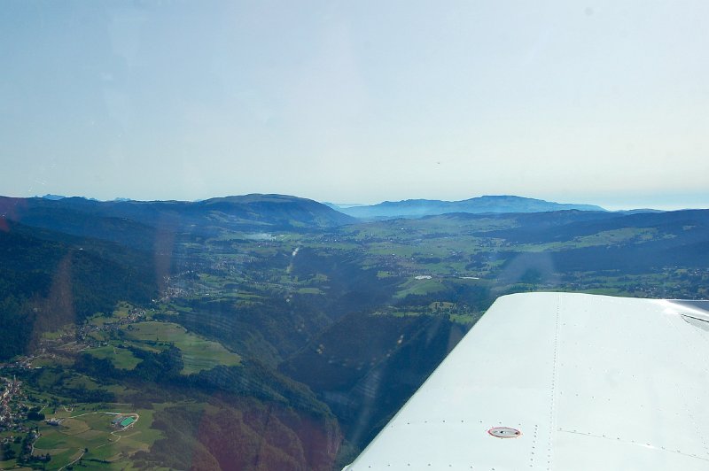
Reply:
[[[158,296],[144,252],[11,220],[0,227],[0,360],[45,331],[112,312],[118,301],[145,305]]]

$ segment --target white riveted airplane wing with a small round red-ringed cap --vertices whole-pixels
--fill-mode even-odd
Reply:
[[[707,470],[705,309],[500,297],[345,469]]]

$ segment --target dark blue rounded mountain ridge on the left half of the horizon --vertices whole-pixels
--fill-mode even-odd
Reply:
[[[356,220],[311,199],[244,195],[187,201],[97,201],[84,197],[0,197],[0,220],[136,247],[155,231],[214,235],[232,230],[332,228]],[[152,247],[139,247],[148,248]]]

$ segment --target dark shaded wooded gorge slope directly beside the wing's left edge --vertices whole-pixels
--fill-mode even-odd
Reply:
[[[353,313],[325,329],[280,370],[338,416],[348,442],[369,443],[464,336],[432,316]]]

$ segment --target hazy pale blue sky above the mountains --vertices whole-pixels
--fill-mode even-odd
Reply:
[[[0,194],[709,207],[709,2],[3,2]]]

